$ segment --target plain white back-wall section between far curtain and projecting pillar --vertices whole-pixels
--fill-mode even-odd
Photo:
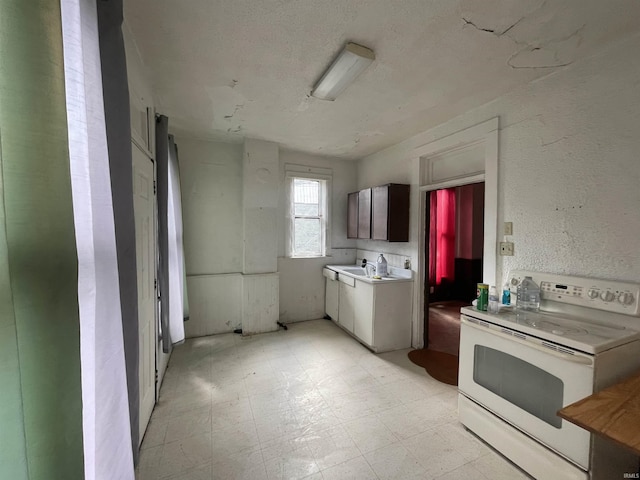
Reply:
[[[171,119],[169,119],[169,122]],[[187,337],[242,323],[242,145],[176,135],[190,319]]]

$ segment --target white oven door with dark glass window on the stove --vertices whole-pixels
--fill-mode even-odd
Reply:
[[[461,315],[460,392],[588,470],[590,433],[556,412],[593,393],[593,357],[541,343]]]

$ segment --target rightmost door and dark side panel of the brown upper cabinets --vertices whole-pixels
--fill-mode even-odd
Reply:
[[[390,183],[372,189],[371,238],[409,241],[409,185]]]

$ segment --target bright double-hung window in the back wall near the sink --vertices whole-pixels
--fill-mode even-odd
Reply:
[[[289,255],[327,254],[327,180],[290,177]]]

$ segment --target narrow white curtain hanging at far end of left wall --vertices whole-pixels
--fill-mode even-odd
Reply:
[[[184,341],[185,292],[183,282],[184,254],[182,246],[182,200],[180,194],[180,168],[178,151],[173,136],[169,135],[167,195],[167,229],[169,250],[169,332],[173,344]]]

